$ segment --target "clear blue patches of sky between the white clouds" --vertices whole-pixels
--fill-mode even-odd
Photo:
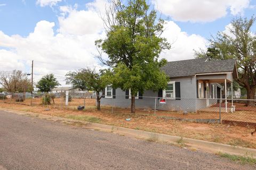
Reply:
[[[92,1],[63,1],[58,3],[58,5],[74,5],[78,4],[77,10],[86,9],[85,4]],[[46,20],[50,22],[55,22],[55,30],[58,28],[58,6],[45,6],[41,7],[36,4],[36,1],[22,1],[22,0],[0,0],[0,4],[5,4],[0,6],[0,30],[2,30],[7,35],[19,34],[22,36],[27,36],[35,28],[35,24],[38,21]],[[250,4],[256,6],[256,1],[251,1]],[[198,34],[205,38],[209,38],[210,35],[215,35],[217,31],[222,31],[225,26],[230,22],[234,15],[228,14],[218,20],[213,22],[179,22],[176,23],[182,29],[182,31],[188,34]],[[255,8],[248,8],[244,10],[244,16],[250,17],[255,14]],[[163,18],[168,19],[168,16],[163,15]],[[171,18],[169,17],[169,20]],[[255,28],[255,27],[254,27]]]

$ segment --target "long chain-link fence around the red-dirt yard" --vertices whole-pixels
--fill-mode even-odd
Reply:
[[[97,112],[97,96],[91,92],[70,94],[1,94],[5,104]],[[1,102],[1,101],[0,101]],[[131,115],[131,96],[101,96],[102,113]],[[252,106],[247,106],[247,105]],[[254,106],[253,106],[254,105]],[[166,120],[223,123],[256,128],[256,100],[135,97],[135,114]]]

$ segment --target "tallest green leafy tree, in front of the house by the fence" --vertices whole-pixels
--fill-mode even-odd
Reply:
[[[159,60],[163,49],[170,49],[166,38],[161,37],[164,20],[157,19],[145,0],[112,1],[104,20],[107,38],[95,41],[98,49],[109,60],[99,60],[113,68],[111,77],[114,88],[131,89],[131,113],[135,113],[135,96],[138,91],[165,88],[167,79],[160,67],[166,60]],[[101,52],[101,50],[99,50]]]

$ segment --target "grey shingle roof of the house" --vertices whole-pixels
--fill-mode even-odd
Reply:
[[[196,58],[167,62],[161,70],[163,70],[169,78],[186,77],[199,73],[233,72],[236,63],[233,59],[221,61],[206,60],[207,58]]]

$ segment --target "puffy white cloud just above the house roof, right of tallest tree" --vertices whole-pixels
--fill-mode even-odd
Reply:
[[[194,50],[205,49],[206,39],[199,35],[187,35],[173,21],[167,21],[163,37],[173,43],[170,50],[165,50],[162,58],[167,61],[187,60],[194,58]]]

